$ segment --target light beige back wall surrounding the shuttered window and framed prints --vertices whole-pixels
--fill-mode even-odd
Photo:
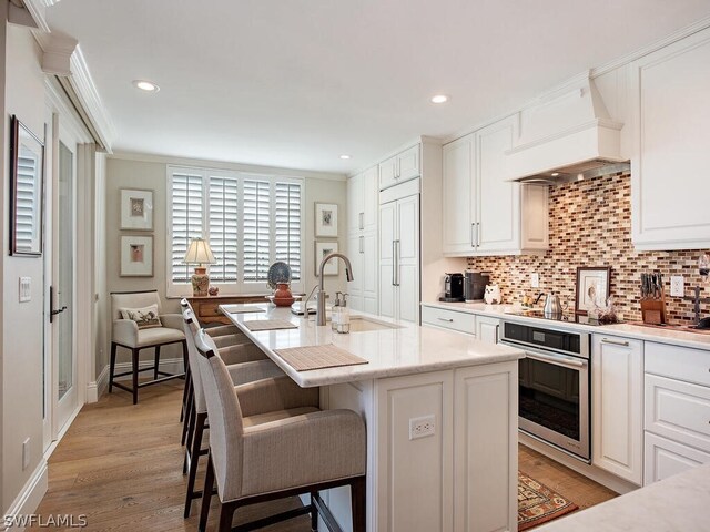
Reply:
[[[252,165],[219,163],[211,161],[192,161],[175,160],[158,156],[145,155],[126,155],[109,157],[106,162],[106,183],[105,183],[105,283],[106,291],[132,291],[132,290],[153,290],[156,289],[161,297],[163,311],[176,313],[180,310],[180,301],[178,298],[168,299],[165,297],[166,272],[165,272],[165,235],[166,235],[166,198],[168,198],[168,180],[166,166],[169,164],[197,166],[207,168],[223,170],[243,170],[248,172],[278,174],[288,176],[305,177],[305,248],[304,248],[304,272],[305,288],[308,290],[316,285],[317,279],[314,274],[314,212],[315,202],[335,203],[338,205],[338,246],[345,249],[346,246],[346,186],[345,176],[318,174],[313,172],[301,172],[295,170],[260,167]],[[121,188],[148,188],[153,191],[153,277],[120,277],[120,239],[121,235],[130,235],[131,232],[120,229],[120,191]],[[146,234],[135,232],[133,234]],[[335,294],[335,290],[343,291],[346,288],[344,268],[341,268],[341,275],[327,277],[326,289],[328,293]],[[191,288],[185,287],[185,295],[190,295]],[[264,285],[264,294],[270,290]],[[110,304],[110,301],[109,301]],[[106,330],[110,331],[111,318],[106,315]],[[109,345],[105,345],[105,352]],[[171,349],[171,350],[169,350]],[[181,357],[179,347],[170,346],[165,348],[163,359]],[[141,358],[150,359],[152,351],[146,350]],[[104,358],[102,358],[104,360]],[[119,349],[116,356],[118,362],[129,361],[129,354]],[[108,361],[103,361],[103,367]],[[97,367],[100,372],[103,368]]]

